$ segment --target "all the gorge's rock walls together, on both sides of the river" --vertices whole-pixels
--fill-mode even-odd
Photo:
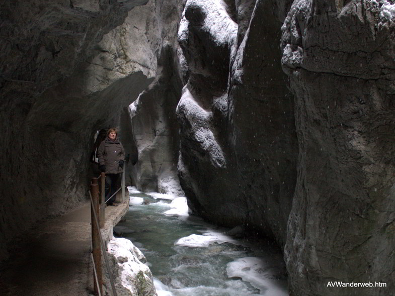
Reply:
[[[275,238],[291,295],[395,290],[393,2],[36,0],[0,14],[0,241],[85,199],[93,134],[111,124],[134,185]]]

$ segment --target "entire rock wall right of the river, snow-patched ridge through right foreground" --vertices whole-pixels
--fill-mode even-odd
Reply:
[[[292,295],[361,293],[330,280],[393,290],[394,9],[185,3],[182,187],[206,219],[273,235]]]

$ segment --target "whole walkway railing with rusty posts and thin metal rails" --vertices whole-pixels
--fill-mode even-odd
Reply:
[[[121,202],[124,203],[125,199],[125,165],[123,166],[121,187],[113,193],[110,198],[105,201],[105,178],[106,173],[101,173],[99,177],[92,178],[89,196],[91,199],[91,224],[92,224],[92,261],[94,267],[94,292],[96,295],[103,295],[103,272],[102,272],[102,251],[104,261],[106,263],[107,273],[110,279],[113,296],[117,296],[115,289],[114,278],[110,271],[108,263],[106,246],[104,244],[100,229],[105,225],[105,204],[117,193],[119,190],[122,192]],[[99,182],[100,181],[100,190]],[[100,196],[99,196],[100,195]]]

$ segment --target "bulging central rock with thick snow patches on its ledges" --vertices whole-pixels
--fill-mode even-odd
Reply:
[[[228,181],[235,184],[227,170],[223,128],[229,55],[236,33],[237,25],[223,3],[186,2],[178,40],[190,77],[177,106],[181,125],[178,170],[193,211],[207,219],[221,217],[241,224],[243,214],[238,213],[235,199],[223,194]],[[224,212],[229,215],[223,215]]]

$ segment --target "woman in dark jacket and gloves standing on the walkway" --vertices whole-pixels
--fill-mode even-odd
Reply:
[[[97,156],[99,158],[99,169],[106,173],[105,194],[109,206],[118,206],[115,203],[115,192],[119,174],[123,171],[125,161],[125,150],[117,138],[117,130],[111,128],[107,132],[107,137],[99,146]]]

